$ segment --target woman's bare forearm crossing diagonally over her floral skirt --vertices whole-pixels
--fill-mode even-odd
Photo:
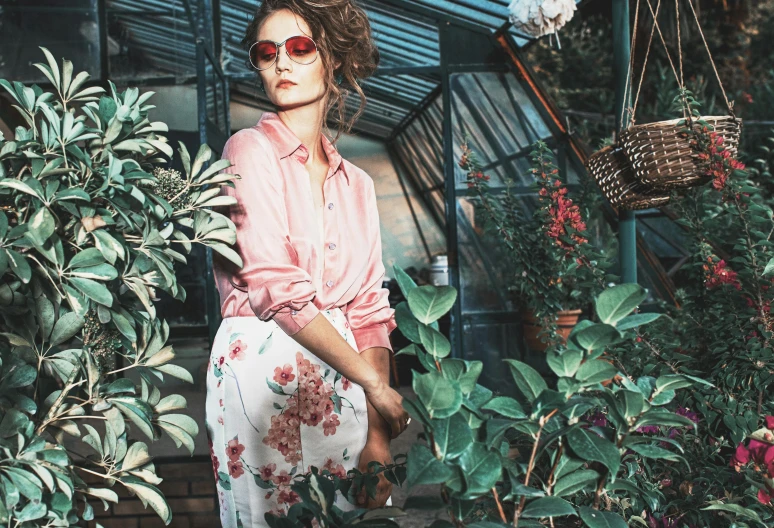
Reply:
[[[363,387],[366,392],[383,383],[374,366],[347,343],[322,313],[317,314],[306,326],[293,334],[293,338],[342,376]]]

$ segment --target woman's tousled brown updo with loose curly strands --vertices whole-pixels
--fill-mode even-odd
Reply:
[[[358,79],[371,76],[379,64],[379,51],[371,36],[371,24],[365,11],[353,0],[263,0],[261,6],[247,25],[242,47],[245,50],[257,40],[258,30],[266,18],[280,9],[288,9],[301,17],[309,25],[312,34],[309,35],[317,44],[320,59],[325,69],[325,87],[328,94],[323,124],[326,124],[329,114],[336,108],[335,122],[338,133],[333,140],[338,140],[343,132],[349,132],[357,118],[363,113],[366,104],[365,93],[358,84]],[[333,65],[340,61],[339,68],[334,71]],[[247,66],[250,67],[248,59]],[[256,72],[260,75],[259,72]],[[341,75],[341,85],[336,83],[336,75]],[[349,118],[346,118],[345,100],[348,90],[352,87],[360,96],[360,106]]]

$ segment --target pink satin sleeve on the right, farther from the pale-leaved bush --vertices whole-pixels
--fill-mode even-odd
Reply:
[[[385,269],[382,263],[382,237],[379,229],[379,211],[373,182],[366,202],[369,230],[369,256],[365,279],[360,291],[347,303],[346,317],[357,343],[358,352],[371,347],[384,347],[391,352],[390,333],[397,327],[395,310],[390,308],[390,291],[382,288]]]

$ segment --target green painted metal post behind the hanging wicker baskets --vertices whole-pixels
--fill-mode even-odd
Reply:
[[[636,28],[635,28],[636,30]],[[615,75],[615,128],[616,137],[626,128],[628,116],[621,122],[621,109],[631,105],[631,94],[626,91],[629,74],[629,0],[613,0],[613,69]],[[637,282],[637,219],[634,211],[618,213],[618,256],[621,280]]]

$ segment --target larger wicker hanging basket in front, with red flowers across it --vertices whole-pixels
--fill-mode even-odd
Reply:
[[[732,156],[737,155],[742,121],[733,116],[701,118],[711,130],[723,136],[723,145]],[[691,147],[691,134],[686,133],[684,119],[657,121],[629,127],[621,134],[621,145],[634,176],[654,190],[692,187],[709,182],[707,162]],[[700,125],[695,121],[692,127]]]

